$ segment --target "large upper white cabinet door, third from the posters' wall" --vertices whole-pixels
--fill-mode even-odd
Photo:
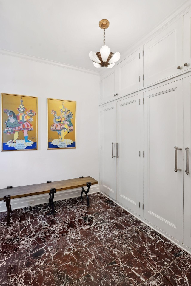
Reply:
[[[144,45],[144,86],[183,70],[182,42],[183,17]]]

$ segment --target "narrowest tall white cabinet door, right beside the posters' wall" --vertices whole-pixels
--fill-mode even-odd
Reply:
[[[117,123],[116,102],[101,108],[101,191],[117,197]],[[112,143],[113,157],[112,157]]]

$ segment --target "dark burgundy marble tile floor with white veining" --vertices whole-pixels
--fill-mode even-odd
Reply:
[[[189,286],[191,256],[100,193],[0,213],[1,286]]]

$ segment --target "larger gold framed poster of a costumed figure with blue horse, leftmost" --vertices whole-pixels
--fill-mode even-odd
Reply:
[[[37,150],[37,97],[1,93],[1,150]]]

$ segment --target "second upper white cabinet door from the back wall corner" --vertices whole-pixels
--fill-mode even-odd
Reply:
[[[117,93],[124,96],[140,88],[140,50],[117,65]]]

